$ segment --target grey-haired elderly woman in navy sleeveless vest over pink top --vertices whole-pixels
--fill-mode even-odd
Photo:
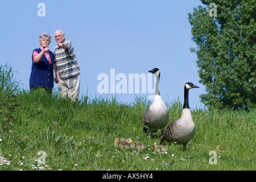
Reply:
[[[45,88],[49,93],[53,89],[53,81],[58,83],[59,74],[57,66],[54,64],[54,53],[49,51],[51,36],[47,33],[42,33],[39,36],[40,48],[34,49],[32,55],[32,67],[29,80],[30,90],[37,88]],[[55,78],[53,77],[53,69]]]

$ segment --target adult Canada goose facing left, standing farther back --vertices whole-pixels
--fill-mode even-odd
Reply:
[[[155,83],[154,102],[147,107],[142,119],[145,125],[143,131],[147,133],[147,137],[149,137],[149,132],[155,133],[158,129],[161,130],[161,134],[163,135],[163,131],[165,131],[165,127],[169,122],[169,110],[165,103],[163,103],[159,93],[160,71],[158,68],[153,68],[149,72],[157,76],[157,81]]]

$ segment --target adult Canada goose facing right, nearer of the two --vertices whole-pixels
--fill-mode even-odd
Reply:
[[[167,142],[175,142],[183,144],[186,149],[186,144],[194,137],[195,124],[192,120],[191,111],[189,108],[189,89],[199,88],[191,82],[187,82],[184,87],[184,105],[182,109],[181,118],[171,122],[161,138],[160,144],[163,140]]]

